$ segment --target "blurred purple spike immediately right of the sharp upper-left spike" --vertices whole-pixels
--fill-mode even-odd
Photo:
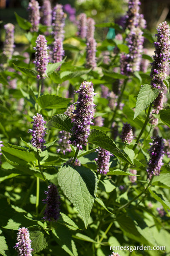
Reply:
[[[55,39],[54,46],[53,46],[53,63],[57,63],[62,61],[62,57],[64,56],[64,50],[62,45],[61,38]],[[57,68],[60,70],[61,65]]]

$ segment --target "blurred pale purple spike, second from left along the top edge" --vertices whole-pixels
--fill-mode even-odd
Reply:
[[[52,23],[52,10],[51,10],[50,0],[44,0],[41,10],[42,10],[41,22],[43,25],[48,26],[48,29],[49,29]],[[49,32],[46,31],[45,35],[49,35]]]

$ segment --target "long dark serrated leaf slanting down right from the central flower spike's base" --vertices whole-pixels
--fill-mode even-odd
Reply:
[[[123,162],[131,164],[131,162],[127,160],[122,151],[120,151],[118,146],[113,142],[113,140],[102,131],[96,129],[91,130],[90,135],[88,137],[88,143],[98,145],[99,147],[110,151]]]

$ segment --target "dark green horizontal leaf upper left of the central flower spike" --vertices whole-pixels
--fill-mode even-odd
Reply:
[[[45,94],[37,99],[41,108],[55,108],[55,109],[65,109],[71,99],[62,98],[57,95]]]

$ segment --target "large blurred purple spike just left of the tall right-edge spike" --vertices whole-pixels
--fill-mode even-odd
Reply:
[[[135,71],[140,70],[144,42],[144,37],[142,35],[143,32],[139,27],[133,27],[130,30],[126,39],[127,46],[129,47],[129,53],[127,55],[121,54],[120,56],[120,68],[122,75],[130,76]]]

